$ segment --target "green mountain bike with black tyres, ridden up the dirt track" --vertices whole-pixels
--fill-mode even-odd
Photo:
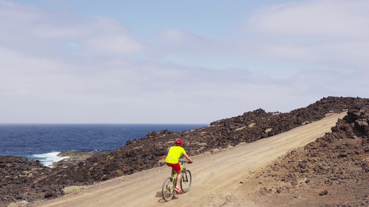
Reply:
[[[182,161],[181,162],[181,172],[182,172],[182,178],[181,178],[181,190],[183,193],[186,193],[190,190],[191,182],[192,182],[192,176],[191,172],[184,167],[184,163],[190,163],[189,161]],[[173,167],[172,167],[173,170]],[[175,172],[172,176],[169,176],[164,180],[163,187],[162,187],[162,196],[165,201],[170,201],[174,195],[174,189],[176,188],[176,177],[177,173]]]

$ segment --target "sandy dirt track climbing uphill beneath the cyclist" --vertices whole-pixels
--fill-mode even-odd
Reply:
[[[175,194],[169,202],[162,199],[161,188],[170,168],[161,166],[89,186],[77,194],[48,201],[42,207],[263,206],[249,201],[244,190],[240,192],[239,187],[245,185],[241,182],[288,150],[324,136],[345,115],[346,112],[325,117],[273,137],[230,147],[219,154],[194,156],[193,164],[186,165],[192,172],[191,189]]]

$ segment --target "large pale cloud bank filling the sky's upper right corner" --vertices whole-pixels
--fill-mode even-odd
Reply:
[[[259,9],[244,29],[250,56],[300,64],[368,68],[369,1],[310,0]],[[257,38],[256,38],[257,36]]]

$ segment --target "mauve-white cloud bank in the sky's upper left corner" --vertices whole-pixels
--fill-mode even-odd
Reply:
[[[83,56],[122,55],[145,49],[141,41],[130,36],[128,27],[108,17],[86,19],[76,14],[69,17],[4,0],[0,4],[0,44],[28,50],[30,55],[35,55],[35,50],[40,56],[60,55],[70,52],[70,44],[78,48],[70,53]]]

